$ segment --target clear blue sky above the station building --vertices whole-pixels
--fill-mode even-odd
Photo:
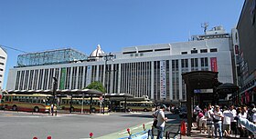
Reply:
[[[27,53],[71,47],[87,55],[125,46],[186,42],[223,25],[238,23],[244,0],[0,0],[0,45]],[[8,54],[9,68],[23,53]]]

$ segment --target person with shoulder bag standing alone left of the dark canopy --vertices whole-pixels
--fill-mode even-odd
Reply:
[[[160,109],[155,111],[154,114],[152,114],[157,119],[157,138],[156,139],[163,139],[164,137],[164,131],[165,131],[165,122],[167,122],[167,117],[165,117],[165,110],[166,106],[165,104],[161,104]]]

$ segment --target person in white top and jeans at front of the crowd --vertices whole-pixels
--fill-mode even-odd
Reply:
[[[215,105],[213,116],[214,122],[214,136],[217,138],[217,130],[219,130],[219,138],[222,139],[222,118],[224,117],[222,112],[219,109],[219,105]]]

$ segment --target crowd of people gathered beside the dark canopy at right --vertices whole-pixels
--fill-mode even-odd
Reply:
[[[208,107],[201,109],[198,106],[194,109],[196,114],[197,127],[200,133],[208,133],[208,137],[214,136],[222,138],[229,137],[231,132],[240,134],[240,137],[255,137],[251,131],[247,130],[243,124],[235,119],[246,119],[252,124],[256,124],[255,104],[250,106],[215,105],[208,104]]]

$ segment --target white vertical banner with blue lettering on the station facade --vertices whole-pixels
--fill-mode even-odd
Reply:
[[[160,61],[160,99],[166,98],[165,60]]]

